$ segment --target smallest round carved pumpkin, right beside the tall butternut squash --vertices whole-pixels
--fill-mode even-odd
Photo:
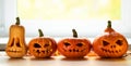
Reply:
[[[29,53],[35,57],[50,57],[57,50],[57,42],[49,37],[44,37],[38,29],[39,37],[34,38],[28,43]]]

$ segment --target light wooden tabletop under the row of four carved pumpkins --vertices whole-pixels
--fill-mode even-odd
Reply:
[[[85,56],[85,58],[78,60],[63,56],[10,58],[5,52],[0,52],[0,66],[131,66],[131,55],[122,58],[100,58],[98,56]]]

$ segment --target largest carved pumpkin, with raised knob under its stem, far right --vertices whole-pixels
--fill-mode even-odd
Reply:
[[[100,57],[121,57],[128,50],[127,39],[111,28],[111,22],[105,32],[93,41],[93,50]]]

